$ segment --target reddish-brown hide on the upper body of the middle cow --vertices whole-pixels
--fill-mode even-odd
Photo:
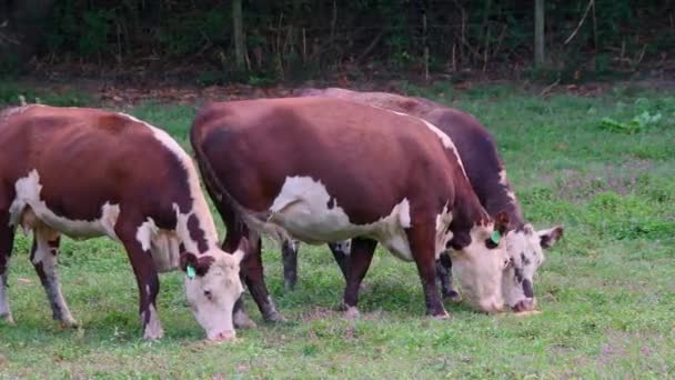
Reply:
[[[321,182],[357,224],[380,220],[430,180],[453,194],[450,152],[423,121],[339,99],[215,103],[197,117],[192,143],[254,211],[272,208],[292,177]]]

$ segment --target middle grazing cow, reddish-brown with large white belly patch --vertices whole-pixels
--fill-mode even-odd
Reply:
[[[429,314],[447,317],[434,268],[446,246],[470,301],[502,309],[508,259],[498,236],[508,217],[485,212],[452,140],[431,123],[339,99],[259,99],[204,107],[191,141],[228,227],[223,247],[242,236],[255,246],[244,278],[266,320],[279,314],[264,284],[260,231],[309,243],[353,238],[347,314],[377,242],[415,261]]]

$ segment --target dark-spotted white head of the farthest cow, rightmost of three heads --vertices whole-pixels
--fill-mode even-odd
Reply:
[[[511,266],[504,273],[502,291],[506,304],[515,312],[534,310],[534,273],[544,262],[544,249],[553,247],[562,236],[563,228],[560,226],[535,231],[531,224],[506,234]]]

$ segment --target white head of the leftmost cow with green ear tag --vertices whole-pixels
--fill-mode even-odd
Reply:
[[[239,264],[249,251],[242,238],[236,251],[229,254],[218,248],[199,257],[181,253],[181,269],[185,272],[185,293],[194,318],[206,330],[209,340],[235,338],[232,311],[244,288],[239,278]]]

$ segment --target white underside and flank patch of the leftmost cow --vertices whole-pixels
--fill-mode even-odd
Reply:
[[[62,232],[73,239],[89,239],[100,236],[108,236],[119,240],[114,232],[114,224],[120,214],[119,204],[105,202],[101,207],[101,217],[94,220],[70,220],[52,212],[47,203],[40,199],[40,174],[36,169],[31,170],[24,178],[14,183],[17,196],[10,206],[10,226],[22,223],[26,211],[32,212],[34,217],[51,229]],[[27,210],[30,207],[30,210]],[[24,230],[32,229],[33,226],[23,226]]]

